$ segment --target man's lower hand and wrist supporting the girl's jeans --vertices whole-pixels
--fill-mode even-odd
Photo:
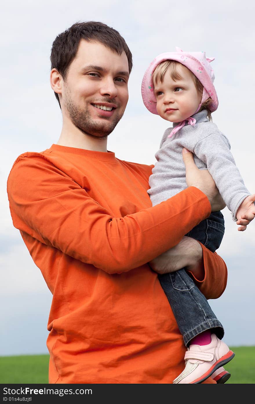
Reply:
[[[150,261],[149,266],[158,274],[168,274],[186,267],[198,279],[203,273],[203,250],[197,240],[184,236],[175,247]]]

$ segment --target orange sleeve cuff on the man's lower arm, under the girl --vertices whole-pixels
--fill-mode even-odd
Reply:
[[[227,285],[227,267],[216,252],[211,252],[203,244],[201,247],[203,249],[204,271],[201,271],[197,278],[192,272],[189,271],[189,273],[207,299],[217,299],[222,295]]]

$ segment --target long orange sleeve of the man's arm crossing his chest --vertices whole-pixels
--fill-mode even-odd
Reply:
[[[156,206],[112,217],[72,178],[38,156],[18,158],[7,189],[15,227],[109,274],[157,257],[211,212],[205,194],[189,187]]]

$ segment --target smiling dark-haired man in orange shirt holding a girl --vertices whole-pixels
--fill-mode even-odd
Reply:
[[[156,272],[187,266],[207,298],[219,297],[226,265],[183,236],[224,205],[189,152],[193,186],[151,207],[152,166],[107,151],[132,68],[117,31],[74,24],[54,41],[51,61],[60,138],[19,156],[8,178],[13,224],[53,295],[49,382],[172,383],[185,346]]]

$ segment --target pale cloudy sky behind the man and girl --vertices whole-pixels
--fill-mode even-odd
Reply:
[[[12,225],[6,181],[25,151],[56,143],[62,117],[50,88],[50,49],[54,38],[77,21],[102,21],[124,36],[133,53],[129,104],[110,135],[108,150],[118,158],[152,164],[164,130],[170,126],[144,107],[140,87],[145,69],[158,54],[204,50],[215,57],[219,108],[213,120],[231,143],[232,154],[251,193],[253,175],[255,31],[252,0],[23,0],[1,6],[1,199],[0,355],[47,353],[51,294],[19,231]],[[29,180],[29,179],[28,179]],[[226,291],[209,301],[225,326],[229,345],[255,345],[255,221],[238,232],[227,208],[226,232],[218,253],[228,266]]]

